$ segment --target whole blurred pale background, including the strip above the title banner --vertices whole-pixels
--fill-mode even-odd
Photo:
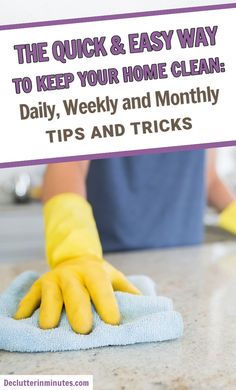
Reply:
[[[17,2],[1,0],[0,24],[67,19],[83,16],[148,11],[209,4],[234,3],[235,0],[147,0],[110,2],[97,5],[88,0],[81,7],[75,0]],[[55,6],[56,4],[56,6]],[[217,151],[219,174],[236,194],[236,147]],[[20,261],[44,257],[43,220],[39,201],[44,166],[0,170],[0,261]],[[217,215],[209,208],[205,213],[207,242],[232,240],[233,236],[217,227]]]

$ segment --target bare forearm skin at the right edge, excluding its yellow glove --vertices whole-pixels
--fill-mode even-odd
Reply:
[[[234,200],[235,196],[216,171],[216,150],[208,151],[207,160],[207,197],[210,206],[222,212]]]

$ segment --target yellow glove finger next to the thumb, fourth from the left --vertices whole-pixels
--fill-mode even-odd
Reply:
[[[93,270],[85,277],[86,287],[101,319],[111,325],[120,323],[120,311],[112,284],[102,269]]]

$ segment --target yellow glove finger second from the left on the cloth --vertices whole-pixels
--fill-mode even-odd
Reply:
[[[39,326],[42,329],[55,328],[61,316],[63,298],[56,280],[45,279],[42,282],[42,297],[39,313]]]

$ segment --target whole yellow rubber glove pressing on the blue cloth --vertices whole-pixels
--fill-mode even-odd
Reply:
[[[19,304],[15,319],[40,306],[39,326],[54,328],[63,304],[72,329],[92,329],[91,300],[106,323],[120,323],[114,291],[140,294],[125,276],[103,259],[89,203],[79,195],[61,194],[44,207],[46,251],[51,271],[42,275]]]

